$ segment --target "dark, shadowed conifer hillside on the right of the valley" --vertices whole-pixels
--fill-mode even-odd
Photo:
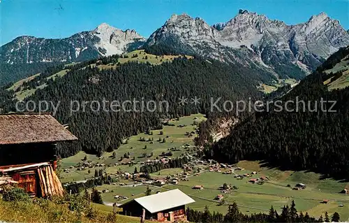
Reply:
[[[298,101],[303,100],[306,104],[305,112],[271,109],[270,112],[255,113],[232,129],[228,137],[208,146],[207,156],[229,163],[265,159],[272,166],[311,169],[348,178],[349,88],[329,92],[324,81],[336,74],[323,72],[347,55],[349,48],[339,50],[281,98],[284,106],[286,101],[296,102],[298,97]],[[323,111],[322,99],[336,101],[332,108],[336,112]],[[324,108],[329,110],[331,106],[332,103],[325,103]],[[296,108],[296,105],[289,104],[289,108]],[[313,111],[315,109],[317,111]],[[205,129],[205,124],[202,128]]]

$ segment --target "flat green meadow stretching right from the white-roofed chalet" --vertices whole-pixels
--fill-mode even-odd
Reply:
[[[252,162],[252,164],[255,162]],[[213,196],[218,194],[216,188],[223,185],[224,182],[239,187],[236,192],[226,196],[225,201],[236,201],[242,211],[249,210],[250,212],[260,212],[266,210],[273,205],[276,210],[283,207],[285,204],[290,204],[292,199],[295,200],[297,209],[302,211],[309,211],[311,215],[319,217],[324,215],[325,211],[334,213],[338,212],[342,220],[347,220],[349,217],[349,197],[339,192],[346,187],[346,182],[337,182],[336,180],[326,179],[320,180],[320,175],[311,172],[293,172],[293,171],[279,171],[275,168],[249,168],[245,166],[245,171],[241,173],[251,173],[251,171],[259,171],[258,175],[269,176],[270,181],[264,185],[257,185],[248,182],[248,179],[237,180],[232,175],[223,175],[222,173],[202,173],[199,176],[193,176],[188,182],[181,182],[182,189],[188,194],[198,194],[207,199],[213,199]],[[255,165],[254,165],[255,166]],[[306,189],[295,191],[287,187],[296,185],[298,182],[303,182],[307,185]],[[202,192],[193,192],[191,187],[193,185],[202,184],[207,189]],[[178,187],[178,186],[171,186]],[[180,187],[180,186],[179,186]],[[323,199],[329,199],[329,205],[320,203]],[[266,203],[268,204],[266,206]],[[343,204],[340,208],[338,205]],[[248,208],[247,208],[248,207]],[[203,208],[203,207],[201,207]],[[262,211],[263,212],[263,211]],[[267,211],[265,211],[267,212]]]

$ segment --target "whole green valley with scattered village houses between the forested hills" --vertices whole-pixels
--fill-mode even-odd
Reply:
[[[103,176],[105,181],[96,185],[96,189],[101,193],[104,208],[124,214],[127,213],[122,208],[127,203],[179,189],[195,201],[186,204],[195,210],[208,207],[211,211],[226,213],[228,206],[236,202],[243,213],[268,213],[270,206],[280,210],[294,200],[298,210],[309,215],[318,216],[323,210],[329,210],[347,217],[349,197],[345,182],[320,180],[319,174],[307,171],[281,171],[259,161],[222,164],[200,158],[201,150],[194,144],[195,135],[188,137],[188,133],[195,133],[195,123],[202,118],[199,114],[170,120],[164,129],[128,138],[127,144],[101,157],[80,152],[75,157],[62,159],[61,180],[67,188],[75,191],[75,185],[82,193],[91,179]],[[158,137],[157,141],[147,140]],[[174,149],[173,144],[177,148]],[[144,145],[155,147],[151,150],[152,156],[138,155],[149,151]],[[170,151],[173,154],[166,155]],[[132,211],[128,215],[133,216]],[[152,217],[156,220],[155,215]]]

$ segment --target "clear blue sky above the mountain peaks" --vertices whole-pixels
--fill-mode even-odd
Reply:
[[[0,0],[0,45],[22,35],[64,38],[102,22],[148,37],[174,13],[214,24],[227,22],[240,8],[287,24],[323,11],[349,29],[349,0]]]

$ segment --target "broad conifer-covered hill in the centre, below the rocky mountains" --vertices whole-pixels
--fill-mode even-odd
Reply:
[[[110,62],[110,58],[101,64]],[[77,64],[69,67],[66,75],[55,80],[45,80],[51,72],[38,76],[24,84],[23,87],[36,87],[45,80],[44,89],[36,89],[35,94],[25,100],[52,101],[55,105],[60,101],[56,117],[62,124],[68,124],[70,131],[80,140],[75,145],[67,144],[61,147],[61,156],[74,154],[79,150],[87,152],[102,152],[117,149],[123,139],[139,132],[162,127],[161,120],[167,117],[177,117],[192,113],[209,115],[210,97],[223,97],[232,101],[257,99],[261,93],[255,87],[255,77],[258,71],[247,68],[228,66],[221,62],[208,62],[201,59],[173,59],[160,65],[128,62],[119,64],[116,69],[98,69],[92,64],[96,61]],[[87,65],[91,64],[91,65]],[[8,92],[2,93],[5,101]],[[200,104],[195,106],[191,98],[200,98]],[[179,104],[180,98],[188,98],[188,104]],[[70,101],[125,101],[139,100],[147,103],[168,101],[169,110],[155,112],[94,112],[90,106],[87,109],[70,113]],[[14,110],[15,101],[3,103],[6,111]],[[127,108],[132,108],[128,104]],[[74,107],[76,109],[76,107]],[[102,109],[102,108],[101,108]],[[52,110],[51,110],[52,111]]]

